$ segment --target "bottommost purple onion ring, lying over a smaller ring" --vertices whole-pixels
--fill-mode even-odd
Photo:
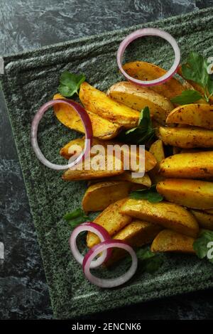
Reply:
[[[107,250],[111,249],[113,247],[122,248],[125,249],[127,252],[129,252],[132,259],[132,264],[129,270],[126,271],[125,274],[116,277],[116,279],[100,279],[99,277],[92,275],[90,272],[92,259],[94,259],[94,257],[97,256],[97,254],[106,251],[106,249]],[[137,266],[138,266],[138,259],[136,256],[136,252],[133,250],[133,248],[130,247],[129,244],[126,244],[126,242],[116,239],[107,240],[95,245],[84,256],[84,261],[83,261],[84,275],[92,284],[95,284],[100,288],[114,288],[116,286],[120,286],[121,284],[126,283],[126,281],[129,281],[129,279],[131,279],[133,274],[135,274]]]

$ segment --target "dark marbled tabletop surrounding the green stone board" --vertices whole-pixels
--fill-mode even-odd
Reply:
[[[213,6],[213,0],[0,0],[0,55]],[[53,318],[35,228],[0,92],[0,319]],[[213,318],[213,292],[151,301],[94,319]]]

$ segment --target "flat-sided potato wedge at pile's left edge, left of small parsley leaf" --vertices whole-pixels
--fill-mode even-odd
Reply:
[[[116,200],[126,198],[131,190],[131,183],[126,181],[105,181],[90,185],[82,199],[85,212],[106,209]]]

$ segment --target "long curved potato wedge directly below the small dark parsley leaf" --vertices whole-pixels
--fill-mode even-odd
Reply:
[[[195,217],[179,205],[160,202],[150,203],[148,200],[128,199],[121,206],[120,212],[124,215],[146,220],[183,235],[196,237],[199,227]]]

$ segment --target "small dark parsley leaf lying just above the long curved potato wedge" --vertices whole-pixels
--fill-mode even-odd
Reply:
[[[130,198],[135,200],[148,200],[150,203],[158,203],[163,200],[163,196],[156,190],[156,185],[151,185],[148,189],[139,189],[129,194]]]

